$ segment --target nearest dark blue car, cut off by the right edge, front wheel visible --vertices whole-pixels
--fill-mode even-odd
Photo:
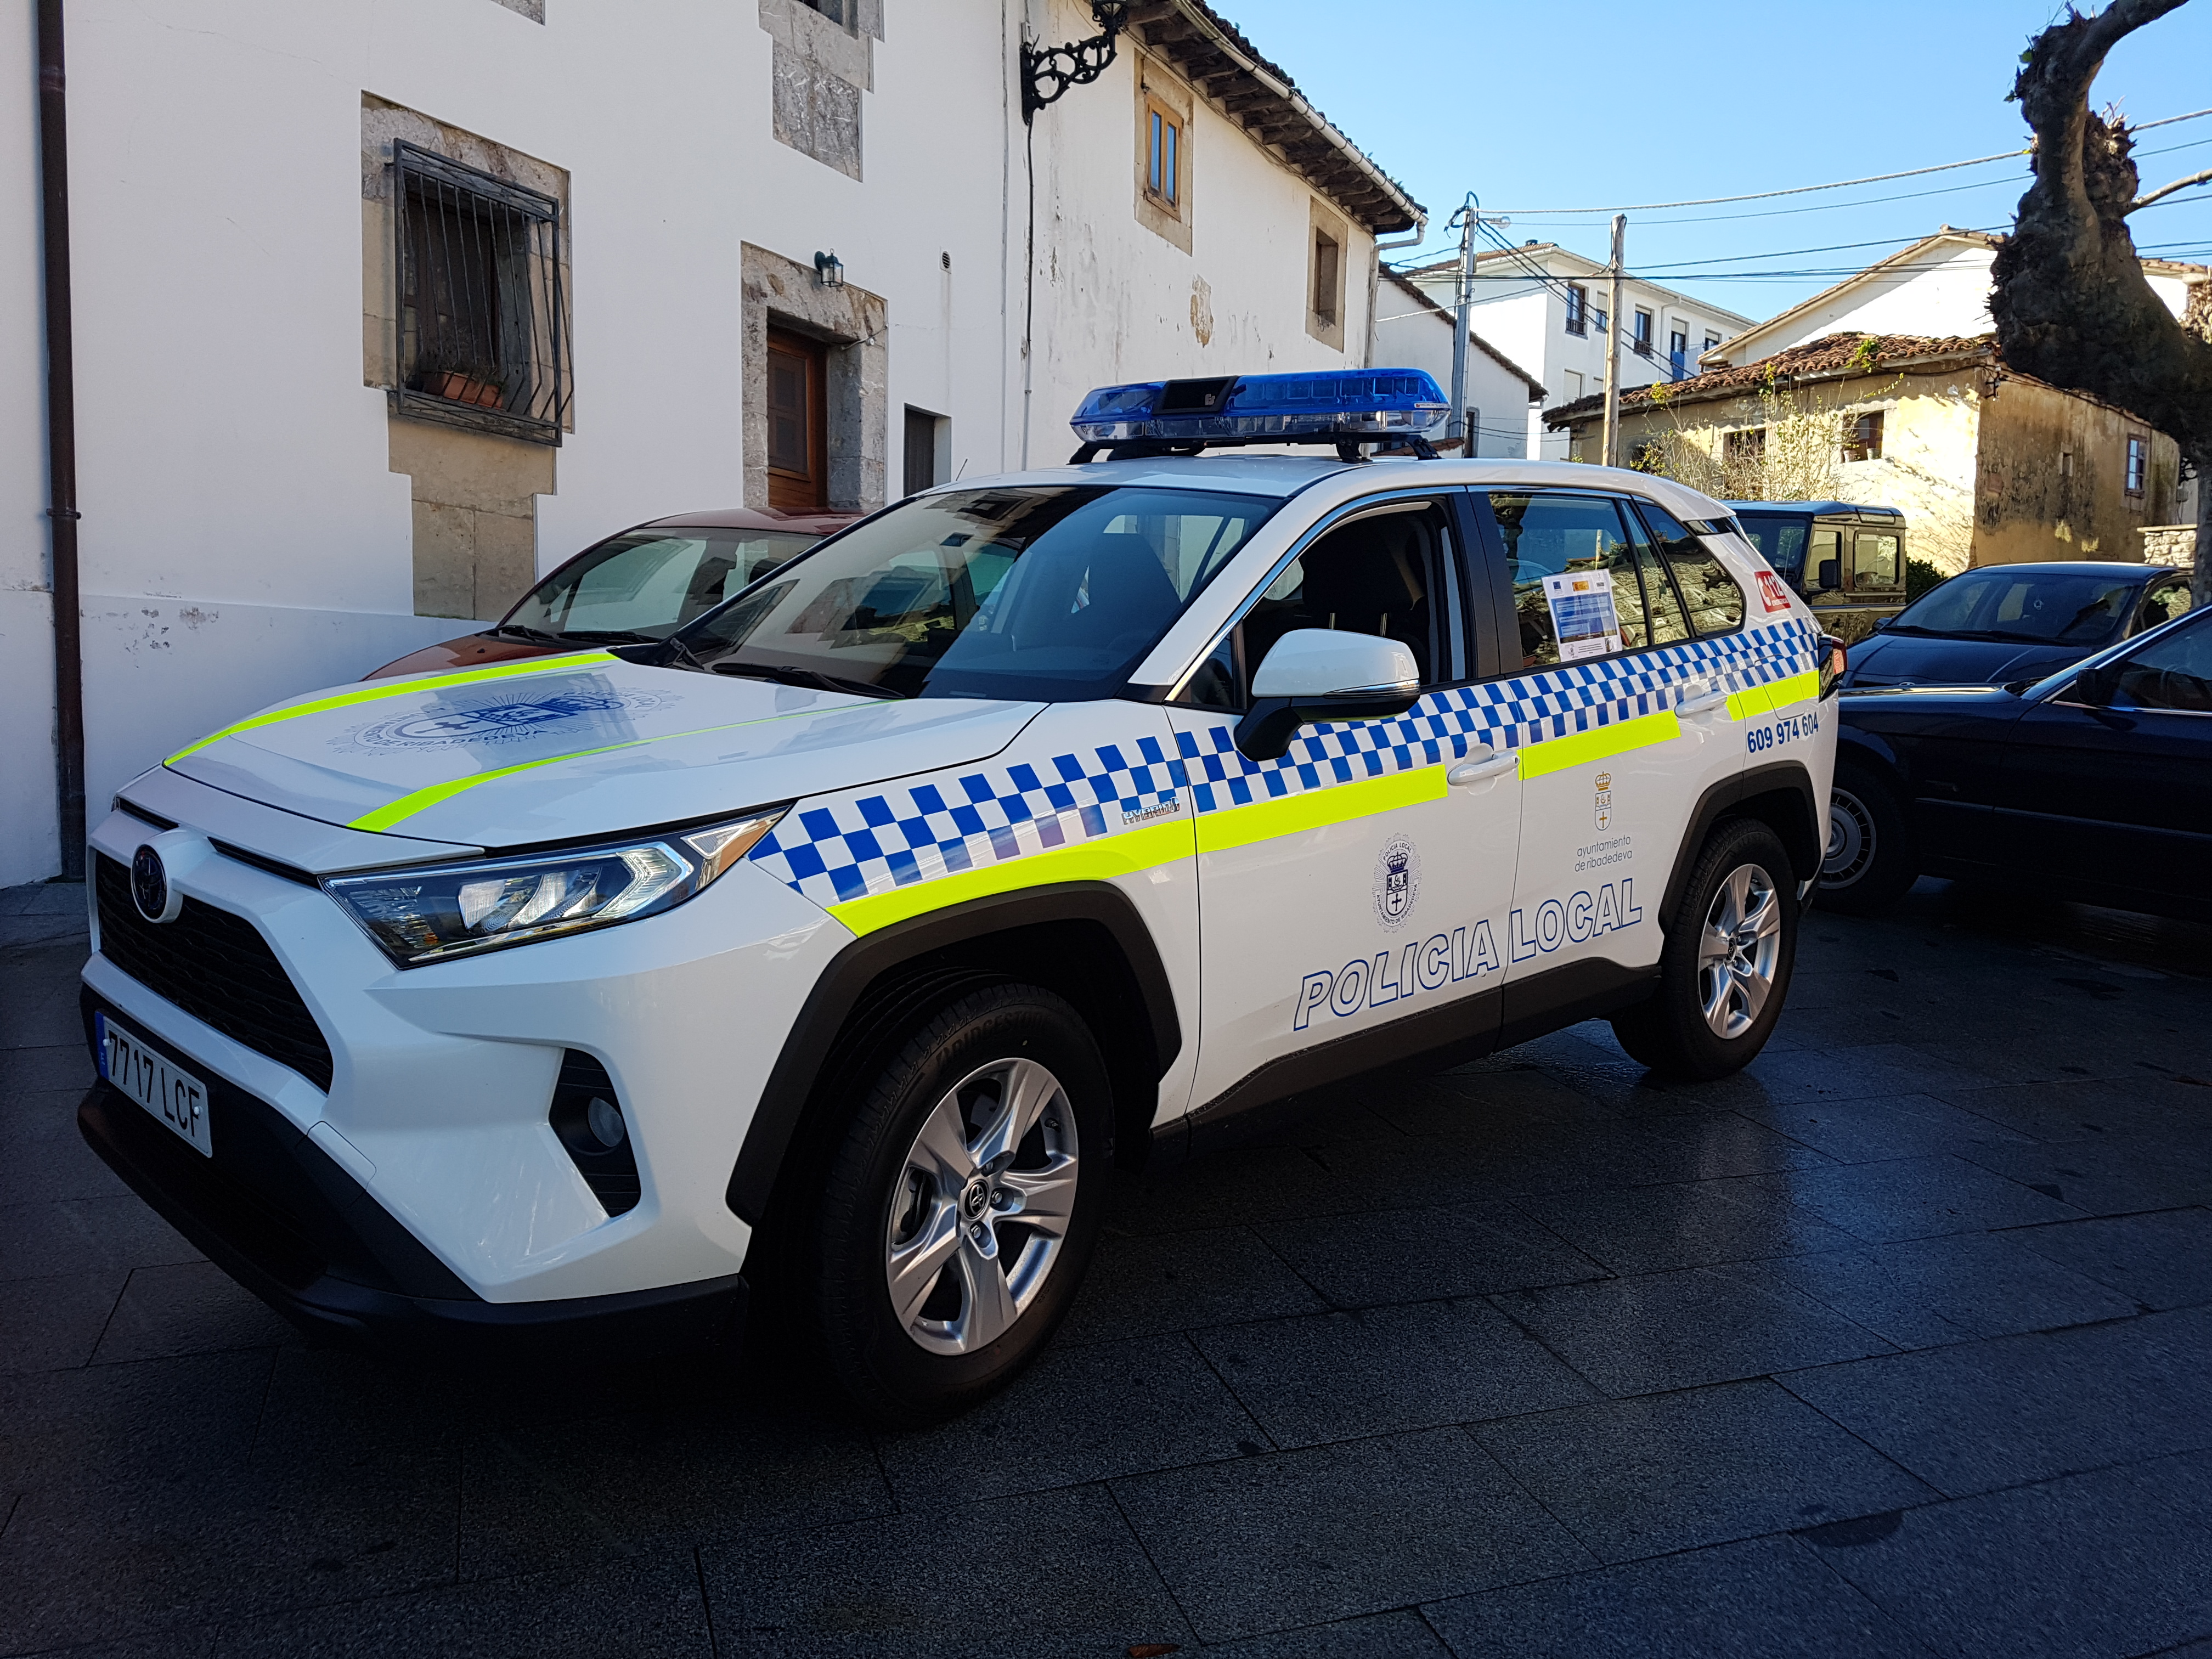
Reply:
[[[2033,686],[1843,692],[1825,909],[1916,876],[2212,920],[2212,611]]]

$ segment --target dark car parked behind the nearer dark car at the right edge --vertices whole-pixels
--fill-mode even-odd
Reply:
[[[1851,646],[1845,688],[2042,679],[2190,608],[2161,564],[1984,564],[1953,575]]]

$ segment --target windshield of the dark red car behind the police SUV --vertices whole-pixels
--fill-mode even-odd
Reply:
[[[794,531],[630,531],[549,575],[500,628],[560,639],[666,639],[816,540]]]

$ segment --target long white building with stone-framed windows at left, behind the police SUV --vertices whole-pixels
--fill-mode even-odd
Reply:
[[[86,796],[646,518],[1367,361],[1420,208],[1201,0],[71,0]],[[1062,66],[1097,64],[1062,58]],[[38,62],[0,124],[0,885],[60,867]],[[1031,219],[1031,201],[1033,219]]]

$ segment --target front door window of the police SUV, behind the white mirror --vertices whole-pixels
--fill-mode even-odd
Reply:
[[[1462,677],[1453,630],[1451,518],[1433,502],[1378,511],[1340,524],[1276,573],[1179,701],[1243,708],[1245,686],[1292,628],[1336,628],[1396,639],[1413,653],[1425,686]]]

